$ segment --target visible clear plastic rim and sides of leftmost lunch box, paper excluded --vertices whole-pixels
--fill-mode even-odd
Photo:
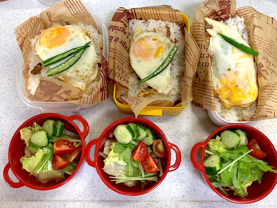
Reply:
[[[100,33],[103,34],[103,53],[109,61],[109,39],[108,39],[108,30],[104,23],[92,15],[94,21],[97,24],[97,29]],[[83,108],[92,107],[92,105],[79,105],[70,102],[40,102],[40,101],[31,101],[28,96],[29,93],[25,90],[25,80],[23,78],[22,72],[24,70],[24,59],[22,53],[18,47],[17,54],[17,69],[16,69],[16,88],[17,93],[20,99],[27,106],[40,109],[42,112],[76,112]]]

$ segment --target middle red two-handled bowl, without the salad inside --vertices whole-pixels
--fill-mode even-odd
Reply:
[[[153,131],[155,132],[156,138],[162,140],[162,143],[164,144],[164,148],[165,148],[166,154],[167,154],[166,155],[167,157],[162,159],[162,161],[163,161],[162,177],[160,177],[157,182],[153,181],[152,183],[147,184],[146,186],[143,187],[143,189],[141,188],[140,183],[138,183],[136,186],[133,186],[133,187],[128,187],[128,186],[124,185],[123,183],[115,184],[115,181],[111,181],[111,179],[109,178],[111,175],[107,174],[102,169],[104,167],[104,161],[103,161],[104,157],[100,156],[100,152],[103,152],[105,142],[107,140],[111,139],[109,137],[109,135],[111,135],[111,133],[113,133],[113,131],[119,124],[128,124],[130,122],[140,123],[140,124],[145,125],[149,129],[153,129]],[[89,153],[90,153],[91,147],[95,144],[96,144],[96,147],[95,147],[95,153],[94,153],[94,161],[92,161],[89,156]],[[173,149],[176,153],[176,161],[173,166],[170,165],[171,149]],[[85,159],[86,159],[87,164],[96,168],[102,181],[111,190],[113,190],[119,194],[123,194],[123,195],[127,195],[127,196],[139,196],[139,195],[146,194],[146,193],[154,190],[164,180],[164,178],[166,177],[166,174],[168,172],[174,171],[179,167],[179,165],[181,163],[181,152],[175,144],[172,144],[167,141],[166,136],[164,135],[162,130],[158,126],[156,126],[154,123],[152,123],[151,121],[146,120],[144,118],[130,117],[130,118],[122,118],[120,120],[113,122],[111,125],[109,125],[103,131],[103,133],[100,135],[100,137],[98,139],[91,140],[86,146]],[[159,174],[159,172],[158,172],[158,174]]]

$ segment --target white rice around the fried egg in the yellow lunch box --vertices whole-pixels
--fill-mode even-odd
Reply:
[[[131,41],[132,35],[134,31],[139,27],[143,29],[143,32],[152,31],[154,28],[157,32],[160,32],[166,36],[166,27],[170,28],[170,39],[175,40],[175,38],[179,41],[176,43],[178,46],[177,53],[175,54],[171,66],[171,83],[173,85],[173,90],[168,94],[151,94],[149,98],[161,98],[161,99],[168,99],[177,101],[181,99],[182,96],[182,88],[183,88],[183,72],[184,72],[184,65],[185,65],[185,57],[184,57],[184,50],[185,50],[185,42],[184,36],[180,31],[179,25],[176,23],[170,22],[163,22],[161,20],[153,20],[150,19],[148,21],[145,20],[130,20],[129,21],[129,40]],[[137,84],[138,83],[138,75],[134,72],[132,67],[129,69],[129,92],[128,96],[137,96],[138,93],[141,91],[141,87]]]

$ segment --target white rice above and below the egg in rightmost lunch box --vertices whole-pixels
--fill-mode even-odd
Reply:
[[[225,25],[233,28],[234,30],[239,31],[242,38],[248,42],[248,34],[246,30],[246,25],[244,24],[244,18],[235,16],[234,18],[229,18],[226,21],[221,21]],[[243,121],[249,119],[251,116],[255,114],[257,110],[257,103],[254,102],[247,107],[232,107],[231,109],[227,109],[225,105],[222,105],[219,102],[219,99],[215,98],[216,100],[216,111],[218,112],[221,118],[224,118],[227,121]]]

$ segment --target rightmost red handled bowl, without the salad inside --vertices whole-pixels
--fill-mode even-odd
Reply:
[[[250,127],[248,125],[244,124],[230,124],[226,125],[223,127],[220,127],[216,131],[214,131],[205,142],[199,142],[195,144],[192,147],[191,153],[190,153],[190,160],[192,162],[192,165],[201,171],[201,175],[203,180],[209,187],[216,192],[219,196],[222,198],[234,202],[234,203],[239,203],[239,204],[249,204],[249,203],[254,203],[257,202],[263,198],[265,198],[275,187],[277,183],[277,174],[274,172],[265,172],[262,177],[262,182],[261,184],[258,183],[258,181],[254,181],[252,185],[250,185],[247,188],[248,195],[245,197],[240,197],[240,196],[235,196],[232,191],[228,191],[227,193],[229,196],[225,196],[221,192],[219,192],[209,181],[207,174],[205,172],[204,168],[204,151],[205,148],[209,142],[210,139],[215,138],[216,135],[219,135],[222,131],[226,129],[242,129],[247,132],[247,138],[248,141],[251,140],[252,138],[255,138],[261,147],[263,151],[267,153],[266,157],[263,159],[268,163],[269,166],[273,166],[275,169],[277,168],[277,152],[276,149],[274,148],[273,144],[270,142],[270,140],[263,134],[261,131]],[[201,150],[201,162],[200,164],[196,161],[196,151],[202,148]]]

